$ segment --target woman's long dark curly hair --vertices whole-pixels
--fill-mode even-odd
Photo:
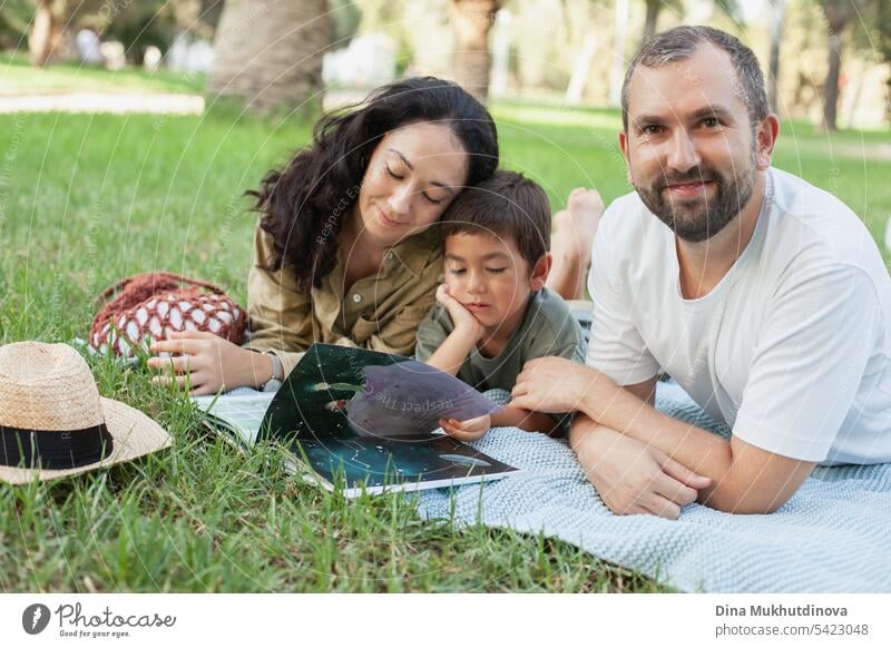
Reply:
[[[383,86],[364,102],[327,115],[313,129],[313,141],[283,170],[266,174],[256,192],[261,227],[274,240],[275,271],[294,268],[309,294],[337,259],[337,235],[359,195],[372,153],[389,131],[412,121],[449,125],[468,154],[467,186],[498,167],[498,135],[491,115],[460,86],[417,77]]]

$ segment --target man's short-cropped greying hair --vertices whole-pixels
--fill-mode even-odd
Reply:
[[[628,86],[638,66],[660,68],[674,61],[692,57],[703,45],[723,49],[731,57],[736,70],[736,85],[742,101],[748,109],[748,120],[753,128],[770,111],[767,94],[764,90],[764,76],[755,53],[730,33],[704,26],[681,26],[657,33],[646,41],[634,57],[625,81],[621,85],[621,124],[628,131]]]

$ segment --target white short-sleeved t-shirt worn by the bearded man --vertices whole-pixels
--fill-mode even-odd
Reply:
[[[891,461],[891,279],[841,200],[770,169],[743,254],[685,300],[674,233],[637,194],[607,209],[587,364],[620,385],[673,376],[738,439],[828,464]]]

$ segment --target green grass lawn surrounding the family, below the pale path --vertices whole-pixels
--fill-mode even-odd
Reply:
[[[578,185],[607,202],[628,190],[615,111],[495,112],[505,163],[555,206]],[[834,187],[881,234],[891,161],[850,153],[888,138],[828,143],[795,126],[777,166]],[[241,194],[309,132],[222,111],[0,116],[0,342],[82,337],[92,297],[149,269],[218,283],[244,303],[255,215]],[[344,501],[288,478],[273,449],[243,455],[208,434],[188,400],[145,371],[90,362],[105,395],[157,419],[175,445],[106,472],[0,485],[0,591],[663,590],[562,542],[421,521],[408,498]]]

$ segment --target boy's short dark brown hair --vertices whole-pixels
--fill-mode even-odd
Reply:
[[[550,249],[550,203],[536,183],[515,171],[498,170],[468,187],[441,219],[442,242],[454,234],[489,234],[513,242],[535,267]]]

